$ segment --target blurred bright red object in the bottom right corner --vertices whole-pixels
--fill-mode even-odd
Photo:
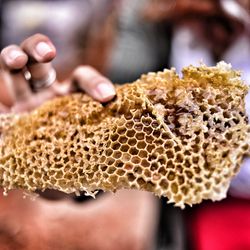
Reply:
[[[250,201],[207,202],[189,214],[191,249],[250,249]]]

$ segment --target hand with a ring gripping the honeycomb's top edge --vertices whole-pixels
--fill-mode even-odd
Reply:
[[[56,49],[50,39],[42,34],[33,35],[19,46],[10,45],[1,52],[0,113],[31,110],[55,96],[76,89],[85,91],[100,102],[115,96],[112,83],[90,66],[77,67],[62,83],[54,77],[51,61]],[[31,78],[27,80],[27,72]],[[37,83],[47,82],[47,88],[34,92]],[[46,86],[45,86],[46,87]]]

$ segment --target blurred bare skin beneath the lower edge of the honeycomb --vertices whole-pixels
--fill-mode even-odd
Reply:
[[[119,191],[76,203],[0,196],[0,249],[152,249],[158,221],[156,198]]]

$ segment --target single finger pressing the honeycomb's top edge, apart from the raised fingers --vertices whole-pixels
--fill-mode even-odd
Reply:
[[[90,66],[76,68],[73,81],[76,81],[82,90],[100,102],[110,101],[116,95],[113,84]]]

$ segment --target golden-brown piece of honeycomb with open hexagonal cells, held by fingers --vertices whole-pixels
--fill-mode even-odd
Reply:
[[[220,62],[186,67],[182,78],[174,69],[142,75],[106,104],[77,93],[2,115],[0,186],[139,189],[182,208],[220,200],[250,154],[247,91]]]

